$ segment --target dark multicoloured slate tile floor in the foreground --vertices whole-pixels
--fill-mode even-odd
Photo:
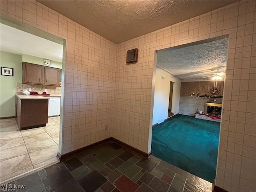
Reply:
[[[211,192],[212,184],[154,156],[105,142],[7,185],[16,192]],[[23,188],[24,186],[24,188]]]

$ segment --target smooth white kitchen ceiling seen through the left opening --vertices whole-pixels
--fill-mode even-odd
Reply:
[[[0,50],[62,62],[63,46],[30,33],[0,24]]]

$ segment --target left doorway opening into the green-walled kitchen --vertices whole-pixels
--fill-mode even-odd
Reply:
[[[53,44],[61,49],[61,55],[59,54],[58,62],[52,62],[51,67],[62,69],[62,72],[58,74],[61,76],[62,86],[43,86],[37,84],[23,84],[22,83],[22,61],[30,62],[33,64],[38,64],[41,62],[41,59],[50,59],[46,56],[39,56],[34,54],[29,54],[27,52],[11,52],[12,50],[4,48],[2,42],[4,36],[1,35],[1,60],[5,58],[7,62],[1,62],[2,64],[12,64],[14,69],[14,76],[10,84],[10,91],[1,91],[1,108],[2,108],[2,94],[6,95],[8,98],[5,102],[10,102],[9,106],[14,106],[15,108],[15,95],[18,90],[29,90],[38,91],[42,90],[47,91],[51,96],[59,95],[61,98],[64,96],[64,69],[65,69],[65,44],[66,41],[62,38],[48,34],[38,28],[28,26],[24,23],[12,20],[11,18],[5,18],[1,16],[1,25],[6,26],[6,28],[12,28],[12,30],[20,31],[26,33],[32,40],[32,36],[35,38],[42,39],[43,42],[50,42],[48,48],[52,51],[51,48]],[[1,33],[3,28],[1,27]],[[9,33],[11,34],[11,33]],[[16,37],[15,37],[16,36]],[[19,42],[19,39],[22,40],[23,35],[14,34],[14,38]],[[29,39],[27,41],[29,41]],[[6,38],[4,39],[6,40]],[[40,41],[40,40],[39,40]],[[37,44],[38,42],[34,42]],[[11,44],[11,43],[10,43]],[[42,46],[41,41],[38,43]],[[47,43],[46,43],[47,44]],[[24,44],[23,44],[24,45]],[[25,45],[23,47],[25,50]],[[14,50],[14,48],[11,48]],[[30,47],[30,50],[34,51],[34,46]],[[53,48],[54,49],[54,48]],[[32,51],[31,51],[32,52]],[[3,54],[2,54],[3,53]],[[2,55],[4,57],[2,58]],[[14,57],[13,57],[14,56]],[[15,59],[15,61],[11,60]],[[28,61],[30,60],[30,61]],[[51,61],[56,61],[50,59]],[[58,66],[56,66],[58,64]],[[43,66],[43,62],[41,64]],[[11,66],[9,66],[11,67]],[[8,80],[1,79],[1,89],[2,83],[8,84]],[[8,95],[10,94],[10,95]],[[11,108],[11,107],[9,107]],[[1,118],[1,182],[7,182],[12,180],[12,178],[17,178],[20,175],[24,175],[27,172],[34,172],[38,168],[43,168],[54,164],[59,160],[56,158],[57,152],[60,152],[62,149],[62,117],[63,117],[63,99],[61,99],[60,104],[60,116],[49,117],[48,123],[46,126],[39,128],[32,128],[29,130],[20,131],[18,129],[15,118]],[[1,111],[2,114],[2,111]],[[7,117],[11,115],[7,115]],[[15,114],[12,115],[15,117]],[[1,116],[2,117],[2,116]]]

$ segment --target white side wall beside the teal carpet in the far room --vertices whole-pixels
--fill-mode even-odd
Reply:
[[[164,76],[164,80],[161,77]],[[181,81],[164,70],[156,69],[156,84],[154,95],[154,109],[153,109],[153,125],[157,124],[161,119],[167,119],[168,106],[170,96],[170,82],[174,82],[172,95],[172,112],[178,114],[180,103],[180,85]]]

